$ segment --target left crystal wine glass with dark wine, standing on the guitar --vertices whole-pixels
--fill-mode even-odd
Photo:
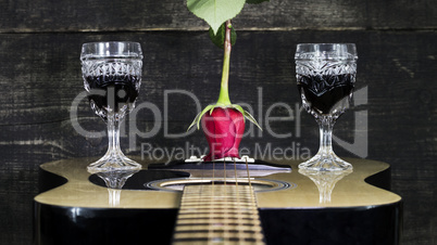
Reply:
[[[90,42],[82,47],[82,73],[92,111],[108,125],[109,146],[90,172],[139,170],[120,149],[120,124],[135,107],[141,85],[142,52],[137,42]]]

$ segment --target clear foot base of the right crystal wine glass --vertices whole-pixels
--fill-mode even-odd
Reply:
[[[344,171],[352,169],[352,165],[340,159],[335,154],[317,154],[299,165],[299,169],[314,171]]]

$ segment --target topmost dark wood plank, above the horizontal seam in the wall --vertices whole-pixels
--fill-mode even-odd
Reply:
[[[246,5],[240,29],[435,28],[433,0],[276,0]],[[184,1],[0,1],[0,33],[204,29]]]

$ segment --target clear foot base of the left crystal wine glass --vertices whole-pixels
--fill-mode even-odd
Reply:
[[[111,171],[135,171],[142,166],[135,160],[127,158],[123,153],[105,154],[102,158],[87,167],[88,172],[111,172]]]

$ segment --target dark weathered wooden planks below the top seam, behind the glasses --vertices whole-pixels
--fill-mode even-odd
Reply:
[[[37,192],[39,164],[102,155],[105,151],[104,137],[82,136],[70,116],[73,100],[83,91],[78,60],[83,42],[134,40],[142,44],[143,81],[137,105],[154,104],[162,120],[152,137],[123,137],[124,150],[132,141],[134,145],[127,151],[130,154],[140,154],[141,143],[159,149],[155,156],[165,154],[164,150],[205,147],[200,131],[168,136],[185,132],[198,112],[197,101],[203,107],[217,98],[222,51],[210,43],[204,31],[1,34],[0,39],[1,244],[28,244],[32,240],[30,203]],[[292,143],[312,154],[317,150],[316,124],[295,108],[299,95],[292,56],[298,42],[357,43],[357,87],[367,88],[367,103],[347,112],[334,132],[352,142],[354,113],[367,111],[367,158],[392,164],[394,190],[404,198],[404,243],[433,243],[437,217],[437,83],[433,82],[437,77],[436,33],[240,31],[232,53],[230,98],[235,103],[247,103],[264,127],[263,132],[253,129],[241,143],[251,154],[269,147],[284,150]],[[270,131],[264,118],[277,102],[290,105],[294,119],[272,121]],[[272,115],[286,117],[289,112],[279,106]],[[298,116],[300,134],[296,131]],[[143,133],[155,122],[147,107],[134,120],[135,128]],[[78,121],[89,131],[99,132],[105,127],[85,101],[78,106]],[[130,130],[127,124],[124,136]],[[279,139],[272,131],[291,137]],[[353,156],[338,144],[334,147],[341,156]]]

